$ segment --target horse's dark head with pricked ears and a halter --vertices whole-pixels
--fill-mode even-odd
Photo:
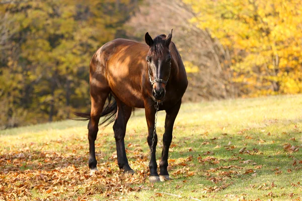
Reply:
[[[148,63],[149,79],[153,85],[152,94],[157,101],[162,101],[166,94],[166,84],[171,72],[171,55],[169,45],[172,39],[172,31],[168,37],[162,34],[152,39],[148,32],[145,34],[145,42],[149,46],[146,57]]]

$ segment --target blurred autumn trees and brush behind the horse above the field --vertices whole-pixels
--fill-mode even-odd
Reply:
[[[302,92],[297,0],[0,0],[0,129],[90,112],[89,62],[173,28],[186,102]]]

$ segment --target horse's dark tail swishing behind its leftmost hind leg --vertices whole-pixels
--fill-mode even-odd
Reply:
[[[116,100],[112,96],[112,93],[109,93],[107,97],[107,106],[103,109],[103,112],[101,113],[101,117],[105,117],[105,119],[99,124],[99,126],[108,126],[112,122],[115,121],[116,113],[117,113],[117,104]],[[87,121],[90,120],[91,116],[89,113],[73,113],[74,115],[77,115],[78,117],[82,117],[81,119],[77,119],[79,121]]]

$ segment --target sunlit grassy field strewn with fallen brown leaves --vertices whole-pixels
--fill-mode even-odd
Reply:
[[[159,113],[162,139],[165,113]],[[172,180],[142,183],[148,160],[144,112],[130,118],[122,174],[112,125],[99,131],[89,175],[87,123],[0,131],[0,200],[301,200],[302,95],[183,104],[170,148]],[[158,161],[162,149],[157,147]],[[159,162],[158,162],[159,163]]]

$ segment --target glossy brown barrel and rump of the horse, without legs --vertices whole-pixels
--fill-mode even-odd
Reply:
[[[127,39],[110,41],[93,56],[90,75],[97,75],[98,81],[108,83],[115,96],[126,105],[142,108],[141,77],[146,70],[147,52],[148,46],[143,43]]]

